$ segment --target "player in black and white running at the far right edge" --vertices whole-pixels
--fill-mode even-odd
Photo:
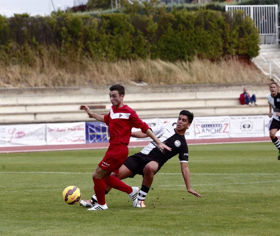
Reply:
[[[274,82],[270,83],[269,90],[270,93],[266,95],[266,98],[269,102],[269,117],[273,117],[269,127],[269,136],[272,143],[279,150],[278,160],[280,160],[280,142],[276,137],[276,132],[280,129],[280,93],[278,93],[277,84]]]

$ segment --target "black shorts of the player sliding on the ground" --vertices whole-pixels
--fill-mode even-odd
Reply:
[[[127,157],[123,164],[133,173],[131,176],[129,176],[129,178],[133,178],[136,174],[140,174],[143,176],[144,167],[151,161],[155,160],[146,154],[138,152],[132,156]],[[162,165],[158,163],[158,169],[156,173],[160,170],[161,167]]]

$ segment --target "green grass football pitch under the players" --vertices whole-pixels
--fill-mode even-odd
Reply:
[[[191,186],[202,198],[187,192],[173,157],[155,175],[146,208],[133,208],[117,190],[106,195],[106,211],[64,203],[69,185],[82,199],[92,196],[91,173],[105,152],[1,154],[0,235],[280,235],[280,161],[272,143],[189,146]]]

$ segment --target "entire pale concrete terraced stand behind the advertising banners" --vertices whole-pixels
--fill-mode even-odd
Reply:
[[[265,95],[267,83],[256,84],[198,84],[125,86],[125,104],[141,118],[177,117],[183,109],[195,116],[267,114]],[[244,87],[256,94],[258,106],[239,105]],[[52,88],[53,89],[53,88]],[[90,119],[81,104],[98,114],[108,114],[111,107],[108,87],[98,88],[0,89],[0,124],[95,121]]]

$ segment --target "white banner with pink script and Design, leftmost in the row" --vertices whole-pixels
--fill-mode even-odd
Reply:
[[[46,145],[45,124],[0,126],[0,147]]]

